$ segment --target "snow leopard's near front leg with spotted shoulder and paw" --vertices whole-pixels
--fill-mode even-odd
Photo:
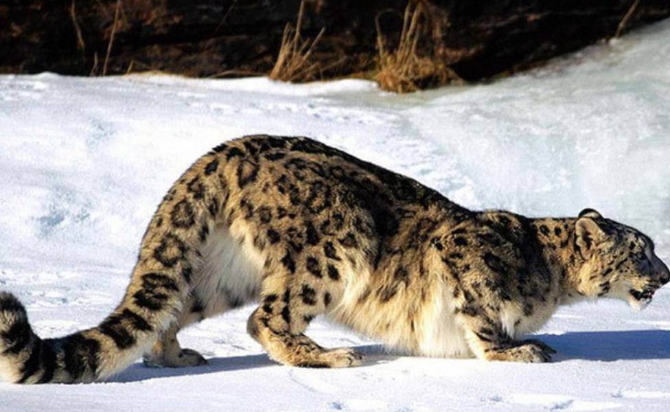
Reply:
[[[527,275],[522,253],[495,231],[457,229],[443,243],[443,273],[472,353],[487,361],[551,361],[556,351],[548,345],[511,336],[532,316],[530,296],[548,290],[551,280]]]

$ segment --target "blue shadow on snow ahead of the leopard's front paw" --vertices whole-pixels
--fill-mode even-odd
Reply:
[[[554,362],[670,359],[670,330],[567,332],[532,337],[557,350]]]

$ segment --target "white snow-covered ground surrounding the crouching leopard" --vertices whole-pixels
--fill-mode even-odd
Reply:
[[[154,207],[198,155],[251,133],[309,135],[476,209],[574,216],[646,231],[670,261],[670,21],[549,67],[476,87],[382,93],[371,82],[0,76],[0,289],[36,332],[95,325],[124,293]],[[0,410],[443,411],[670,408],[670,289],[644,312],[563,308],[539,332],[555,363],[412,358],[354,345],[354,369],[270,362],[251,308],[181,334],[206,367],[133,365],[110,382],[0,383]]]

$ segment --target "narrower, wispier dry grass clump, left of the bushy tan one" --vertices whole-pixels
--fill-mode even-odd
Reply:
[[[284,34],[281,36],[281,47],[277,55],[275,67],[270,71],[270,78],[273,80],[282,80],[284,82],[309,82],[316,80],[317,75],[321,73],[319,62],[312,62],[310,56],[316,44],[321,40],[325,29],[314,38],[303,40],[300,36],[300,29],[305,10],[304,0],[300,3],[298,12],[298,21],[295,29],[290,23],[284,27]]]

